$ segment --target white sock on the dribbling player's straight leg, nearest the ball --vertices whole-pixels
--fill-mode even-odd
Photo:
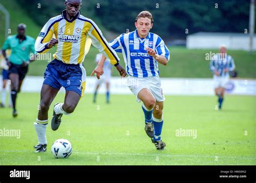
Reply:
[[[47,144],[46,140],[46,127],[48,124],[48,120],[38,120],[37,122],[34,123],[36,133],[37,133],[37,138],[38,138],[38,144]]]

